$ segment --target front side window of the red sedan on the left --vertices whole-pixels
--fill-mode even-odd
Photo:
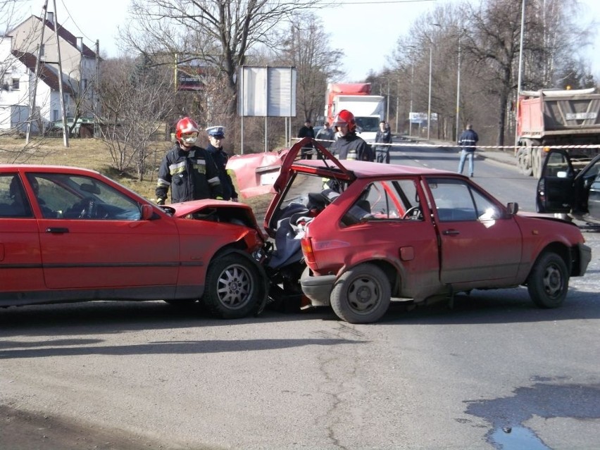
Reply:
[[[58,173],[27,175],[44,218],[139,220],[139,204],[92,177]]]

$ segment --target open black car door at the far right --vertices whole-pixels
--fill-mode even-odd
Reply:
[[[551,149],[542,164],[542,176],[537,182],[538,213],[570,213],[575,201],[575,170],[569,154],[563,149]]]

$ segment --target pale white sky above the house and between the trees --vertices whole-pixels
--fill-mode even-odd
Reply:
[[[326,1],[326,0],[324,0]],[[317,10],[330,34],[330,46],[343,49],[342,61],[347,79],[344,82],[363,80],[370,70],[375,72],[391,65],[396,39],[409,30],[413,21],[437,5],[458,0],[341,0],[339,6]],[[44,0],[20,0],[25,17],[41,15]],[[99,39],[101,56],[119,56],[118,27],[127,22],[128,0],[49,0],[48,11],[54,11],[58,23],[75,36],[82,36],[85,44],[94,49]],[[600,23],[600,1],[580,0],[583,5],[582,20]],[[600,79],[600,32],[587,52],[592,60],[592,73]]]

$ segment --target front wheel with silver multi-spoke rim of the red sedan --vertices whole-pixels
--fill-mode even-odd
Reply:
[[[202,301],[213,315],[238,319],[258,311],[266,295],[264,286],[261,271],[247,256],[217,256],[208,265]]]

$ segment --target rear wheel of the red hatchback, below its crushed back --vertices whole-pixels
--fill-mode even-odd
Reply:
[[[360,264],[335,282],[330,301],[333,311],[349,323],[377,322],[387,312],[391,296],[389,280],[373,264]]]

